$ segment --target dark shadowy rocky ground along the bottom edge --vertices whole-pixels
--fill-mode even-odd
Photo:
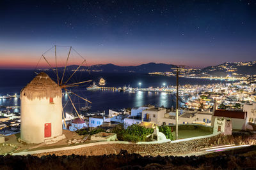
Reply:
[[[240,150],[191,157],[117,155],[0,156],[0,169],[254,169],[256,146]]]

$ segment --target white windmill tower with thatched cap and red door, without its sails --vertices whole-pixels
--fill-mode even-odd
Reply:
[[[42,143],[62,135],[61,88],[46,73],[40,73],[20,92],[20,138]]]

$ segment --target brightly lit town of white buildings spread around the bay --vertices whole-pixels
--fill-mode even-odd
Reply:
[[[166,92],[175,87],[162,87],[158,92]],[[181,97],[179,124],[201,124],[214,126],[216,118],[231,120],[234,130],[253,130],[256,124],[256,83],[253,79],[232,83],[215,83],[211,85],[180,85]],[[145,91],[145,89],[138,89]],[[1,100],[1,99],[0,99]],[[31,109],[31,108],[29,108]],[[20,132],[20,113],[12,109],[0,111],[0,134],[6,136]],[[117,124],[141,124],[150,122],[156,125],[174,125],[175,109],[163,106],[132,107],[102,111],[101,114],[87,113],[78,117],[76,113],[65,113],[62,127],[77,131],[88,127],[113,127]],[[66,126],[65,126],[66,125]]]

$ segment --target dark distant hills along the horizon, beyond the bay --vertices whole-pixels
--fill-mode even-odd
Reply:
[[[89,67],[81,66],[79,70],[99,71],[105,73],[152,73],[152,72],[172,72],[173,64],[163,64],[150,62],[140,66],[116,66],[114,64],[97,64]],[[59,69],[63,69],[60,67]],[[76,65],[67,66],[67,70],[76,69]],[[256,61],[252,62],[224,62],[218,66],[209,66],[203,69],[188,69],[186,74],[194,76],[243,76],[256,75]]]

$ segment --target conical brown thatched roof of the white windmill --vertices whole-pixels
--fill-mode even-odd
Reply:
[[[26,87],[20,91],[20,97],[26,96],[28,99],[35,99],[38,97],[61,97],[61,88],[44,72],[39,73],[33,78]]]

